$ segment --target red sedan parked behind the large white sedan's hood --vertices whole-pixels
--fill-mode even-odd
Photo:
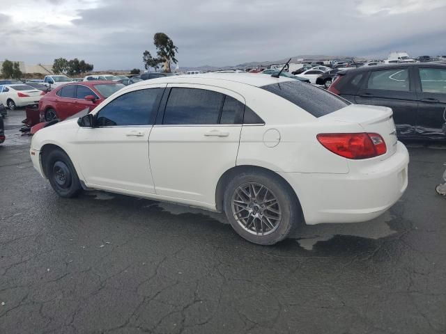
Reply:
[[[65,120],[87,107],[92,111],[100,102],[124,87],[115,81],[73,81],[54,88],[40,99],[40,121]]]

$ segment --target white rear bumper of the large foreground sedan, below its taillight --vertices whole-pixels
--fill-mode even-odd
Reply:
[[[355,173],[279,174],[298,194],[308,225],[369,221],[392,207],[406,191],[409,154],[402,143],[397,145],[392,157]]]

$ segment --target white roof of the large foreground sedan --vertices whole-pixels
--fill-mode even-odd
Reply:
[[[262,87],[270,84],[277,84],[278,82],[292,81],[293,79],[280,77],[275,78],[270,75],[259,75],[259,73],[203,73],[191,75],[173,75],[169,77],[160,77],[148,81],[141,81],[133,84],[132,87],[145,86],[147,84],[203,84],[208,80],[221,81],[222,86],[229,86],[231,82],[239,84],[246,84],[254,87]]]

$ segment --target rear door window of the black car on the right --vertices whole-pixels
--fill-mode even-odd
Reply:
[[[367,88],[408,92],[410,90],[408,69],[373,71],[367,81]]]

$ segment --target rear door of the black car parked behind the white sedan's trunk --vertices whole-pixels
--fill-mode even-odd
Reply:
[[[408,67],[371,70],[357,91],[357,104],[392,108],[398,136],[413,136],[417,118],[417,97]]]

